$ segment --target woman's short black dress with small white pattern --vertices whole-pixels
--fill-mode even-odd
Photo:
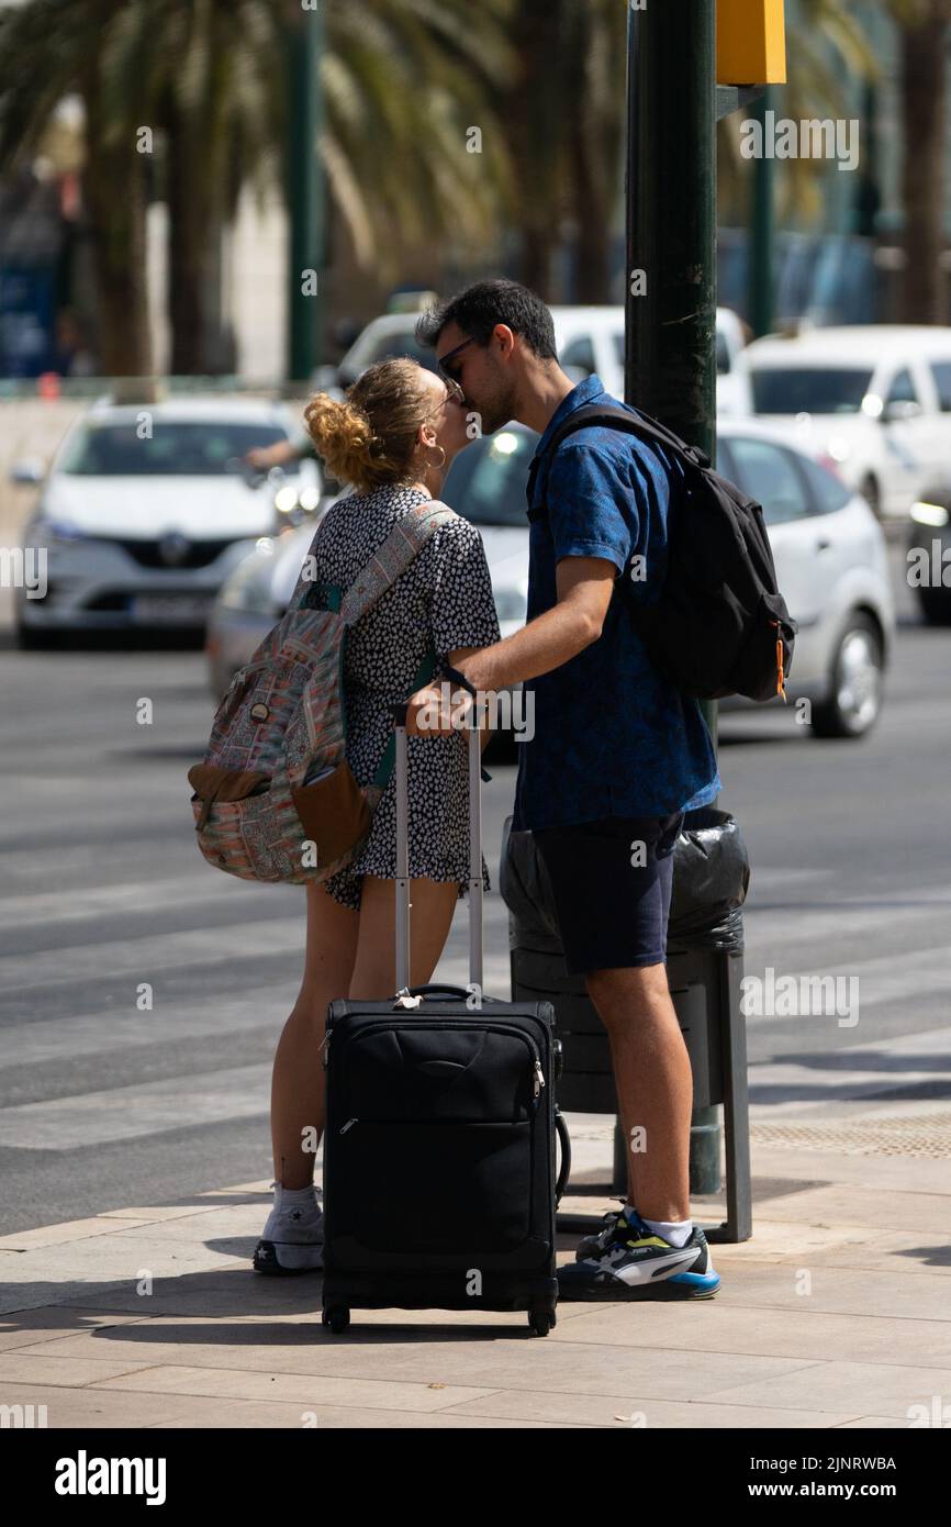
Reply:
[[[314,577],[348,588],[395,522],[427,499],[421,489],[380,487],[337,499],[324,516],[311,553]],[[369,785],[392,733],[389,707],[406,699],[426,649],[446,654],[499,640],[499,621],[482,538],[467,519],[441,525],[377,605],[350,628],[343,667],[347,760]],[[409,738],[409,873],[469,884],[469,734]],[[324,889],[359,909],[362,876],[395,880],[395,770],[363,846]],[[482,858],[482,886],[488,870]]]

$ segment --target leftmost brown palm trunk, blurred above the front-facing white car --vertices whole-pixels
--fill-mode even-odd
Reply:
[[[82,199],[90,228],[92,269],[98,310],[98,360],[102,376],[143,377],[153,373],[145,252],[148,160],[134,137],[104,139],[99,79],[92,72],[85,105],[85,168]]]

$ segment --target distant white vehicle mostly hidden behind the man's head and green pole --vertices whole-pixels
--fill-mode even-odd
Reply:
[[[435,351],[417,342],[418,313],[385,313],[374,318],[350,347],[337,368],[337,383],[347,388],[376,360],[409,356],[435,371]],[[624,308],[553,307],[559,363],[575,380],[594,371],[614,397],[624,397]],[[745,342],[742,321],[730,308],[716,310],[716,403],[721,414],[750,412],[746,379],[737,370]]]

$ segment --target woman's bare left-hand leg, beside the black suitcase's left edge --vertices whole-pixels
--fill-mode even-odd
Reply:
[[[270,1090],[275,1179],[285,1188],[313,1182],[325,1118],[321,1044],[327,1008],[350,991],[359,924],[353,907],[340,906],[322,886],[307,887],[304,980],[278,1041]]]

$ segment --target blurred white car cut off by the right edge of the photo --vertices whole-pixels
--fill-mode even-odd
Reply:
[[[951,469],[951,328],[867,324],[754,339],[751,411],[829,457],[879,518],[907,519]]]

